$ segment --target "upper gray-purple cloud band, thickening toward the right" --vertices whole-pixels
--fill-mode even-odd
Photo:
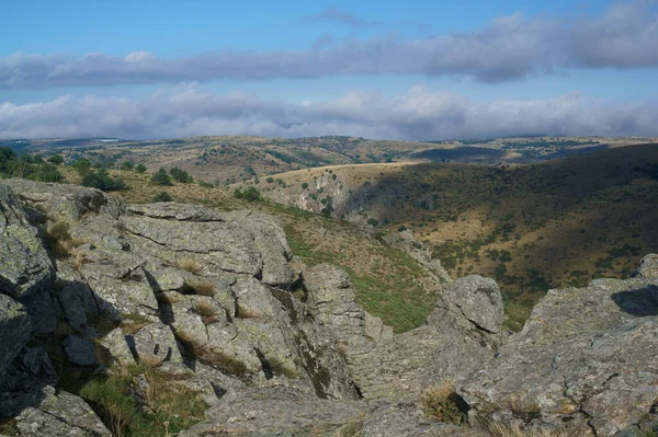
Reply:
[[[87,54],[0,58],[0,88],[178,83],[181,81],[319,78],[337,74],[465,76],[518,80],[570,68],[658,67],[655,0],[614,3],[599,16],[499,16],[488,25],[427,39],[377,37],[315,44],[300,51],[223,50],[163,59]],[[316,19],[363,25],[336,9]]]

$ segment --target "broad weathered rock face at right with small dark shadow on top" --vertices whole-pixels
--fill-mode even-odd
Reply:
[[[579,435],[639,435],[640,426],[658,425],[657,350],[656,280],[597,279],[548,291],[523,331],[458,392],[474,416],[494,412]]]

